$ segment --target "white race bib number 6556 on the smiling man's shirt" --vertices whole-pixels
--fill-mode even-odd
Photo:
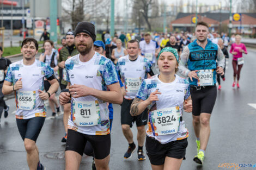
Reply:
[[[17,108],[22,110],[32,110],[35,108],[35,91],[17,91]]]

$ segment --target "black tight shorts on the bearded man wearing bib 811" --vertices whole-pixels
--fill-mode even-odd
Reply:
[[[83,156],[87,141],[92,144],[95,159],[104,159],[109,155],[111,145],[110,134],[86,135],[71,129],[68,129],[66,150],[72,150]]]

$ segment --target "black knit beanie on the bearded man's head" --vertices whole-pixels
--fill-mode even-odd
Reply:
[[[92,37],[93,39],[93,42],[96,39],[94,24],[90,22],[83,21],[78,23],[74,31],[75,37],[76,37],[76,34],[78,33],[86,33],[90,35],[90,37]]]

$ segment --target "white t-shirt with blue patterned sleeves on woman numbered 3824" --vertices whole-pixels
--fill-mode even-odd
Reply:
[[[158,89],[158,91],[161,92],[161,95],[157,95],[159,100],[148,106],[149,111],[179,106],[180,116],[182,116],[183,102],[190,96],[190,84],[186,79],[183,79],[176,74],[175,80],[171,83],[163,83],[158,76],[159,74],[145,79],[141,84],[136,97],[142,100],[147,100],[150,94]],[[164,144],[188,137],[188,130],[185,126],[185,122],[182,121],[180,122],[178,133],[154,136],[151,122],[148,122],[147,135],[149,137],[154,137],[157,141]]]

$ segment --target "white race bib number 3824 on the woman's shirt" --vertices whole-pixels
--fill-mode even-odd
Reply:
[[[176,134],[180,126],[180,108],[164,108],[149,112],[154,136]]]

